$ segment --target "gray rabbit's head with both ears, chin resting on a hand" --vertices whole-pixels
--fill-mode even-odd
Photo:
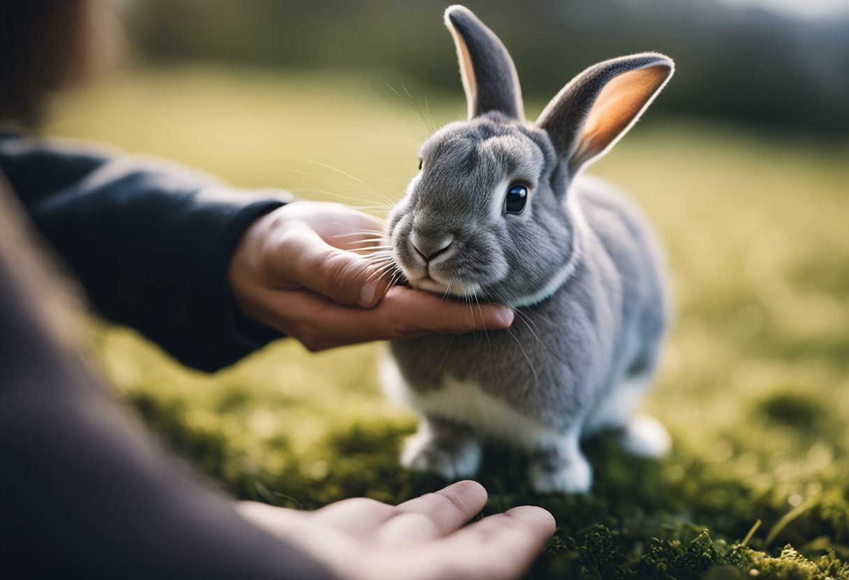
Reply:
[[[582,216],[577,171],[604,154],[672,75],[642,53],[596,64],[525,122],[513,60],[469,9],[445,23],[457,47],[469,120],[421,147],[419,175],[390,216],[396,263],[417,288],[514,306],[546,298],[574,267]]]

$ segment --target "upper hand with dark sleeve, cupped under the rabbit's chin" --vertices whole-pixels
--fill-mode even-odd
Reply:
[[[245,231],[230,261],[236,304],[312,351],[510,326],[513,311],[505,306],[473,309],[389,287],[391,273],[355,251],[380,229],[379,220],[342,204],[299,201],[275,209]]]

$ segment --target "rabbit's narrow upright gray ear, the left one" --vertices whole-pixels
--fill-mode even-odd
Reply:
[[[525,120],[519,76],[498,36],[469,8],[457,4],[445,11],[445,25],[457,46],[469,119],[498,111],[511,119]]]

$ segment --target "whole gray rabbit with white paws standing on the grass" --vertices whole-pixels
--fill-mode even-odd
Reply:
[[[508,304],[507,331],[391,343],[384,382],[421,415],[402,463],[469,477],[480,438],[527,449],[539,492],[586,492],[580,438],[617,429],[638,455],[666,430],[634,408],[668,321],[661,253],[633,204],[581,170],[633,125],[672,76],[642,53],[596,64],[526,123],[507,50],[467,8],[447,9],[469,120],[421,148],[392,210],[392,255],[416,288]]]

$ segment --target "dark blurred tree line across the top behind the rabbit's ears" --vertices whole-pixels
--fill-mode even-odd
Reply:
[[[145,0],[151,59],[394,69],[458,90],[447,0]],[[526,98],[602,59],[656,50],[678,71],[655,108],[824,135],[849,132],[849,14],[800,20],[711,0],[466,0],[497,31]]]

